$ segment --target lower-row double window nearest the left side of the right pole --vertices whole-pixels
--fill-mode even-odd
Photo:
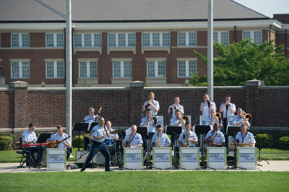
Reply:
[[[197,72],[197,62],[194,60],[178,61],[178,77],[192,77]],[[191,73],[190,73],[191,72]]]

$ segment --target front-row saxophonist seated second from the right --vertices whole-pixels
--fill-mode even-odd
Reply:
[[[208,141],[212,142],[212,139],[214,138],[214,141],[211,143],[211,147],[224,147],[225,146],[225,137],[224,134],[219,131],[220,124],[215,123],[213,126],[213,130],[209,131],[206,135],[205,143]],[[215,134],[216,133],[216,134]]]

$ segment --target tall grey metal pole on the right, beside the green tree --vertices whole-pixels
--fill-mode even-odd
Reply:
[[[213,84],[213,0],[208,0],[208,95],[214,100]]]

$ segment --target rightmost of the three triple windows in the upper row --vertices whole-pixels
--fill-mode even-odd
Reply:
[[[170,33],[142,33],[142,46],[170,46]]]

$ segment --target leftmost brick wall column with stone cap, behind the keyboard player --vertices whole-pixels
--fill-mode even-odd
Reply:
[[[14,128],[27,127],[29,122],[28,111],[28,83],[15,81],[9,83],[14,88]]]

